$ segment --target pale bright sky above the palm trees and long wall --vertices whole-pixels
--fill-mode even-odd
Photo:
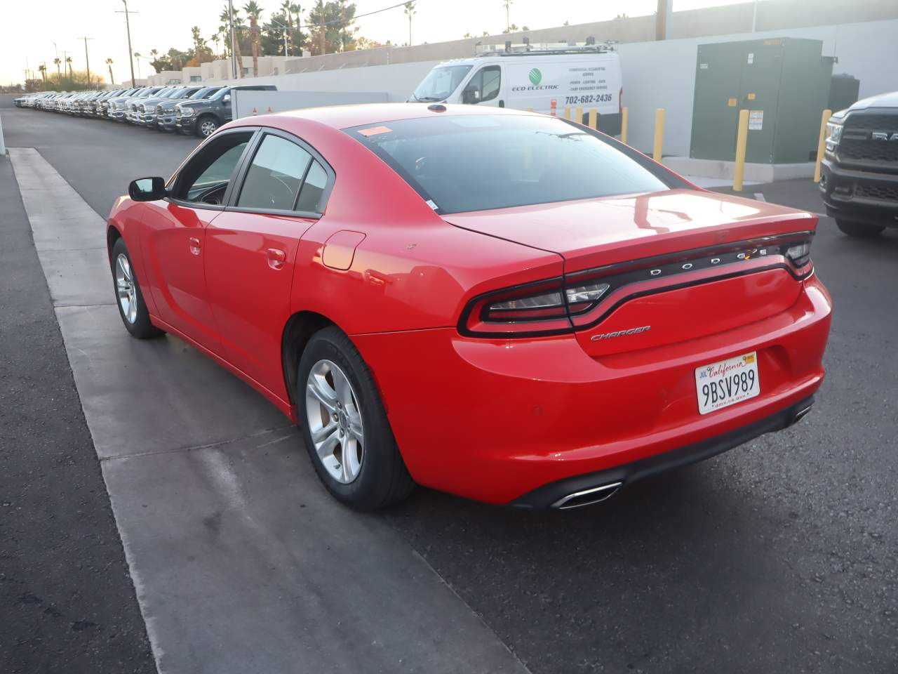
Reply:
[[[281,0],[258,0],[262,19],[276,12]],[[740,0],[673,0],[674,11],[696,9]],[[744,2],[745,0],[741,0]],[[190,27],[199,26],[206,38],[218,28],[218,16],[226,0],[128,0],[131,15],[131,44],[137,53],[150,49],[167,51],[170,47],[187,49],[192,43]],[[400,0],[356,0],[356,13],[363,14],[396,4]],[[244,0],[234,0],[238,7]],[[299,3],[305,16],[306,6]],[[109,81],[105,61],[112,58],[112,74],[116,82],[129,78],[128,38],[121,0],[42,0],[8,3],[0,21],[0,84],[22,82],[24,70],[30,67],[37,76],[40,63],[48,70],[55,66],[57,54],[72,57],[72,67],[83,70],[84,40],[87,41],[91,72],[101,72]],[[613,19],[619,13],[639,16],[653,13],[656,0],[513,0],[511,22],[531,29],[550,28],[569,23],[586,23]],[[417,0],[417,13],[412,17],[412,43],[458,40],[464,33],[479,35],[483,31],[499,33],[506,27],[503,0]],[[357,21],[358,35],[371,40],[402,44],[409,39],[409,23],[401,7],[366,16]],[[600,36],[597,36],[600,37]],[[56,43],[54,45],[54,42]],[[210,47],[215,49],[213,43]],[[64,53],[66,52],[66,53]],[[154,73],[148,60],[137,59],[135,76]]]

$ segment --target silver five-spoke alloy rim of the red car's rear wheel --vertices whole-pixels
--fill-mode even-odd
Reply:
[[[365,459],[362,414],[346,373],[333,361],[319,360],[310,370],[305,414],[321,465],[337,482],[353,482]]]

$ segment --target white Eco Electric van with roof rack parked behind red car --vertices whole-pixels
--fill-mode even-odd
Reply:
[[[599,113],[599,130],[621,133],[621,61],[610,43],[485,45],[474,58],[445,61],[431,70],[409,102],[445,102],[533,109],[571,118],[583,108]]]

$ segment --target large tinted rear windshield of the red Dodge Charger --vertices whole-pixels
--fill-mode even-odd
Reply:
[[[686,186],[634,150],[548,116],[435,114],[345,130],[440,213]]]

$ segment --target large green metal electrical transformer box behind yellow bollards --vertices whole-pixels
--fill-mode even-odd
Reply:
[[[699,45],[690,156],[735,161],[747,110],[746,162],[814,161],[834,60],[822,52],[821,40],[797,38]]]

